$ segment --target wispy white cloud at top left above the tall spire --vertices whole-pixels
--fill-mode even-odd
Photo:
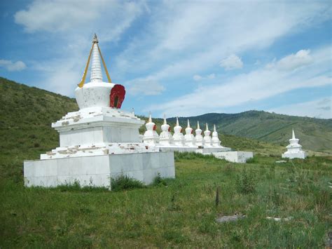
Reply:
[[[109,41],[118,39],[143,10],[144,4],[140,2],[34,0],[27,9],[15,13],[14,18],[29,33],[75,32],[77,29],[90,29],[92,23],[95,29],[107,25],[109,29],[105,29],[103,35]],[[108,19],[107,22],[105,19]]]

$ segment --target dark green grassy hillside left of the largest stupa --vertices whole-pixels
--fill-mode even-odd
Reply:
[[[0,174],[15,175],[22,161],[59,146],[50,127],[67,112],[78,109],[76,100],[0,78]]]

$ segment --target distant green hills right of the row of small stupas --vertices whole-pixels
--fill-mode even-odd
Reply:
[[[186,118],[180,118],[186,125]],[[188,117],[194,124],[216,124],[217,130],[228,135],[272,142],[282,147],[288,144],[293,128],[304,149],[332,153],[332,119],[312,119],[269,112],[249,111],[240,114],[204,114]],[[170,121],[174,122],[174,118]],[[202,127],[201,127],[202,128]]]

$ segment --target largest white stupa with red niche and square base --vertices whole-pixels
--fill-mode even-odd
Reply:
[[[91,57],[91,78],[85,83]],[[109,82],[103,81],[100,59]],[[144,121],[120,109],[125,88],[111,82],[96,35],[75,95],[78,112],[52,123],[60,133],[60,147],[41,154],[41,160],[24,162],[26,186],[55,187],[76,181],[81,186],[110,187],[118,175],[146,184],[158,173],[175,176],[173,152],[159,152],[153,142],[152,146],[142,143],[139,127]],[[146,128],[151,132],[148,135],[156,134],[150,122]]]

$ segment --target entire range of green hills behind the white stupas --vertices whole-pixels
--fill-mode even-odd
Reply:
[[[73,98],[1,77],[0,105],[0,135],[4,140],[4,143],[0,144],[0,149],[20,153],[20,149],[29,147],[36,155],[58,146],[58,134],[50,124],[67,112],[78,110]],[[141,118],[146,120],[146,117]],[[270,145],[262,142],[269,142],[275,144],[275,151],[281,151],[284,149],[282,147],[288,144],[291,128],[294,128],[296,137],[300,138],[300,144],[304,149],[332,153],[332,119],[313,119],[258,111],[239,114],[210,113],[180,117],[183,128],[186,128],[187,119],[190,119],[194,129],[197,121],[200,121],[202,130],[205,129],[205,123],[209,123],[210,130],[215,123],[224,145],[234,149],[263,149]],[[160,130],[162,119],[153,121]],[[174,126],[175,118],[167,121]],[[140,132],[144,133],[144,130],[142,126]]]

